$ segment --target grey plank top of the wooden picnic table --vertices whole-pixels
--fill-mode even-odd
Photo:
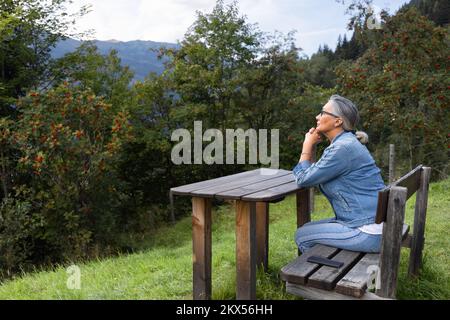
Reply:
[[[301,189],[292,171],[260,168],[171,188],[175,195],[244,201],[274,201]]]

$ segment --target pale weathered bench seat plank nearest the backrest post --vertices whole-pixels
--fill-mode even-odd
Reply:
[[[336,292],[361,298],[367,289],[370,266],[378,267],[380,254],[366,253],[364,257],[337,283]]]

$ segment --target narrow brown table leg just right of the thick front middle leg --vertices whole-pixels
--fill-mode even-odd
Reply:
[[[269,265],[269,203],[256,203],[256,267],[262,265],[267,272]]]

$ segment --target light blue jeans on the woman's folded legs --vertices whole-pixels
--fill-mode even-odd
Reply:
[[[305,223],[297,229],[295,242],[302,253],[311,249],[315,244],[351,251],[378,253],[381,247],[381,234],[367,234],[358,228],[340,224],[336,218],[330,218]]]

